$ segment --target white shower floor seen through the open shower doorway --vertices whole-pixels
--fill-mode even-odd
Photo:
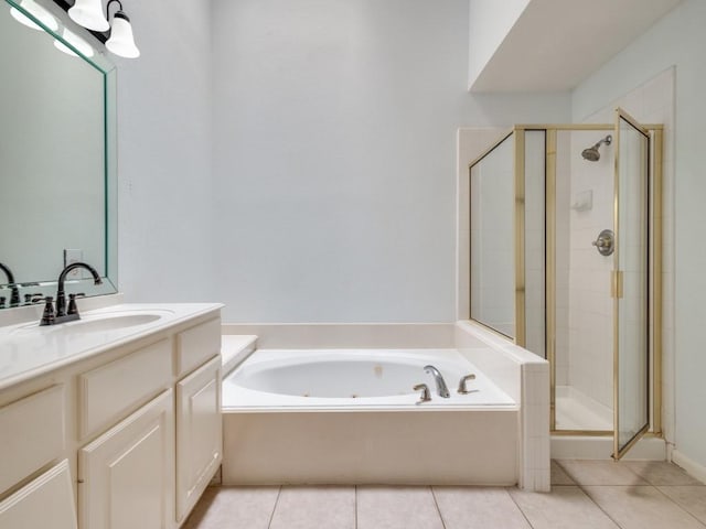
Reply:
[[[612,409],[573,386],[556,387],[556,430],[612,429]]]

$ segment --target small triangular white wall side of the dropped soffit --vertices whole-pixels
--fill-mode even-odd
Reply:
[[[530,0],[469,0],[468,86],[470,87],[517,22]]]

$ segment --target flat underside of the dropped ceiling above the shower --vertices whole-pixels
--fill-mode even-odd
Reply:
[[[471,91],[570,90],[681,0],[532,0]]]

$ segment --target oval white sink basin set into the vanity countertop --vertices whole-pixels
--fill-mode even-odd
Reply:
[[[171,312],[168,311],[164,311],[164,313],[171,314]],[[13,331],[13,334],[53,334],[61,332],[79,335],[88,333],[106,333],[110,331],[121,331],[130,327],[137,327],[139,325],[147,325],[148,323],[153,323],[158,320],[161,320],[163,315],[164,314],[160,314],[159,312],[90,314],[82,316],[81,320],[57,325],[40,326],[36,323],[24,325],[22,327],[15,328]]]

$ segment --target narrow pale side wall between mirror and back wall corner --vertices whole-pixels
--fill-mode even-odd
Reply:
[[[129,2],[142,55],[118,65],[119,287],[215,301],[210,2]]]

